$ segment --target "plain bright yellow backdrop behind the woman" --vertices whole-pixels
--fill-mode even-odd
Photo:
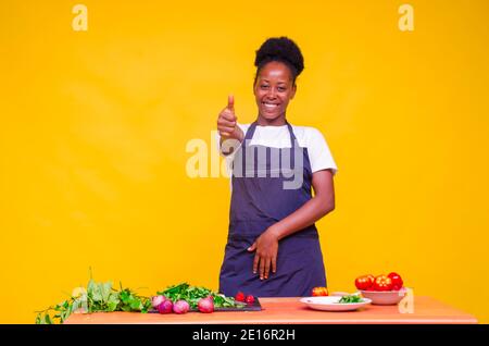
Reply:
[[[235,94],[255,119],[254,52],[301,47],[288,119],[325,135],[339,172],[318,222],[331,291],[397,271],[489,322],[489,2],[76,1],[0,4],[0,322],[98,281],[150,295],[217,288],[225,177],[189,178]],[[485,298],[486,297],[486,298]]]

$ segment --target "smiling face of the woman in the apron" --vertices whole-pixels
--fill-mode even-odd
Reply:
[[[294,95],[292,73],[285,63],[271,61],[260,70],[254,96],[262,119],[268,123],[285,119],[287,104]]]

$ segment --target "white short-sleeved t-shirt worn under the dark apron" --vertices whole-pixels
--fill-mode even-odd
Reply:
[[[251,124],[239,124],[246,134]],[[315,127],[292,126],[293,134],[300,147],[308,148],[309,160],[311,162],[312,173],[328,170],[336,174],[338,168],[333,159],[328,144],[323,134]],[[217,132],[217,146],[220,146],[221,136]],[[274,148],[290,148],[290,135],[287,125],[281,126],[261,126],[256,125],[253,138],[249,145],[260,145]],[[221,151],[220,151],[221,152]],[[235,151],[236,152],[236,151]],[[226,156],[226,160],[233,160],[233,155]],[[229,162],[229,161],[228,161]]]

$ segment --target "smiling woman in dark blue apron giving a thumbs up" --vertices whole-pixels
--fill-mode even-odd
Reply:
[[[220,292],[226,296],[238,292],[259,297],[309,296],[313,287],[326,286],[314,222],[335,208],[337,166],[321,132],[290,125],[286,119],[296,79],[304,69],[299,47],[287,37],[269,38],[256,51],[254,64],[258,119],[238,124],[233,96],[217,119],[221,152],[233,162]],[[254,156],[250,165],[249,152],[259,149],[265,150],[265,159],[258,162]],[[285,188],[289,175],[272,174],[272,152],[275,158],[291,158],[294,172],[300,172],[298,188]],[[268,172],[260,174],[260,169]]]

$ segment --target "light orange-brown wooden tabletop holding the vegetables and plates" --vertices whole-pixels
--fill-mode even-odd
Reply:
[[[299,301],[300,298],[261,298],[262,311],[238,312],[189,312],[186,314],[159,314],[138,312],[98,312],[91,314],[74,313],[67,324],[317,324],[317,323],[477,323],[468,313],[454,309],[430,297],[414,297],[414,312],[401,313],[398,306],[369,305],[351,312],[327,312],[312,310]]]

